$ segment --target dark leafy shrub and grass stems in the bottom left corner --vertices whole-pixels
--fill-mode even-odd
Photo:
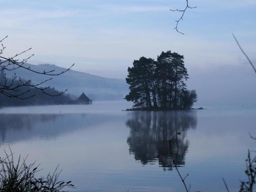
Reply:
[[[11,150],[10,150],[11,152]],[[26,159],[19,157],[14,164],[13,154],[0,158],[0,191],[1,192],[67,192],[65,187],[72,187],[71,181],[58,181],[60,172],[57,168],[53,174],[37,178],[35,174],[40,171],[35,163],[26,164]]]

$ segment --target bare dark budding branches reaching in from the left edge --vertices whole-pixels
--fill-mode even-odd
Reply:
[[[47,93],[47,89],[50,88],[50,86],[48,87],[40,87],[43,83],[50,81],[52,78],[47,79],[45,81],[42,81],[40,83],[32,83],[31,80],[24,80],[21,77],[18,77],[16,75],[16,73],[14,74],[13,78],[7,78],[6,73],[4,73],[4,71],[13,71],[19,68],[23,68],[25,70],[31,71],[33,73],[36,74],[43,74],[43,75],[49,75],[49,76],[57,76],[57,75],[61,75],[65,72],[67,72],[68,70],[70,70],[71,67],[74,66],[74,64],[69,67],[68,69],[60,72],[60,73],[53,73],[55,70],[50,70],[50,71],[36,71],[31,69],[30,67],[26,67],[24,66],[24,64],[27,62],[28,59],[30,59],[34,54],[30,55],[29,57],[22,59],[19,61],[19,59],[17,59],[18,56],[26,53],[27,51],[29,51],[32,48],[29,48],[25,51],[22,51],[21,53],[18,53],[12,57],[4,57],[3,53],[5,50],[5,46],[2,44],[3,40],[6,39],[8,36],[6,36],[5,38],[3,38],[2,40],[0,40],[1,43],[1,48],[0,48],[0,93],[10,97],[10,98],[19,98],[19,99],[28,99],[31,97],[34,97],[35,94],[33,95],[28,95],[28,93],[30,92],[31,88],[34,89],[38,89],[40,90],[43,94],[49,95],[49,96],[59,96],[63,93],[65,93],[67,91],[67,89],[63,92],[61,92],[58,95],[51,95],[49,93]]]

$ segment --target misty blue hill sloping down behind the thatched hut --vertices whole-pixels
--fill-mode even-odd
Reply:
[[[55,70],[53,73],[60,73],[66,70],[51,64],[31,65],[25,63],[24,66],[39,72]],[[14,76],[15,72],[18,77],[27,80],[31,79],[34,83],[39,83],[53,77],[52,80],[44,83],[42,86],[55,87],[59,91],[68,89],[67,93],[73,95],[73,99],[75,99],[74,97],[79,97],[84,92],[93,100],[121,100],[129,92],[125,80],[109,79],[74,70],[69,70],[59,76],[36,74],[22,68],[5,72],[9,78]]]

